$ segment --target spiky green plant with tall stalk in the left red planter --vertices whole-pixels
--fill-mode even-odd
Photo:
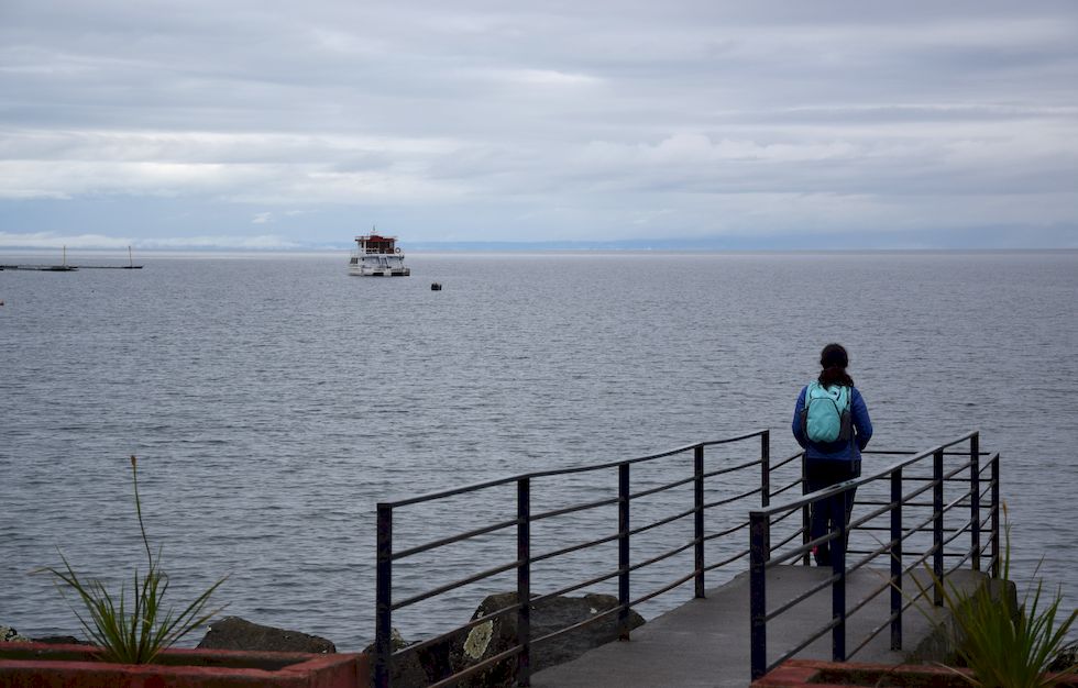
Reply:
[[[77,606],[70,600],[68,604],[89,639],[102,648],[100,654],[102,661],[148,664],[162,650],[206,623],[223,609],[205,611],[210,596],[228,579],[228,576],[210,586],[178,614],[174,608],[165,610],[163,602],[168,591],[168,576],[161,569],[161,547],[158,546],[157,555],[154,556],[150,548],[150,540],[146,537],[146,528],[142,522],[139,463],[134,456],[131,457],[131,478],[134,484],[135,513],[139,517],[142,543],[146,548],[148,570],[140,577],[139,569],[135,568],[130,603],[125,585],[121,585],[119,597],[113,597],[99,580],[79,578],[63,553],[61,553],[61,559],[64,562],[63,569],[46,567],[42,570],[58,578],[56,585],[62,595],[65,587],[77,593],[89,620],[79,613]],[[64,595],[64,598],[67,599],[67,596]]]

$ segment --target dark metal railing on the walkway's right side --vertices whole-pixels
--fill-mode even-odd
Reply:
[[[954,447],[968,443],[966,451],[955,451]],[[952,451],[948,451],[952,450]],[[867,454],[869,452],[866,452]],[[971,562],[974,570],[981,570],[983,557],[988,553],[988,569],[993,577],[999,576],[1000,568],[1000,462],[999,454],[980,451],[980,437],[977,432],[963,435],[950,442],[941,444],[921,453],[886,452],[884,454],[904,454],[892,466],[833,487],[790,499],[780,504],[765,506],[749,513],[749,577],[750,577],[750,617],[751,617],[751,677],[763,676],[769,670],[803,651],[816,640],[831,632],[832,657],[836,662],[845,662],[854,656],[883,630],[890,629],[891,648],[902,647],[902,614],[921,597],[903,593],[903,580],[914,570],[928,565],[931,558],[932,581],[925,586],[931,588],[932,603],[936,607],[943,603],[942,580],[946,575]],[[912,455],[911,455],[912,454]],[[988,460],[982,463],[982,457]],[[957,466],[947,465],[947,457],[958,457],[964,463]],[[952,459],[954,462],[954,458]],[[917,468],[931,468],[931,475],[913,475]],[[986,478],[985,474],[988,473]],[[880,501],[860,501],[859,504],[871,507],[871,511],[859,515],[848,526],[845,519],[845,500],[850,490],[873,484],[886,484],[889,497]],[[909,485],[913,485],[908,490]],[[946,489],[945,489],[946,488]],[[957,495],[953,492],[958,490]],[[931,501],[926,493],[931,492]],[[952,493],[948,493],[952,492]],[[986,503],[987,495],[987,503]],[[920,498],[920,499],[919,499]],[[809,510],[812,506],[831,509],[833,523],[836,525],[827,534],[811,539],[807,526],[801,530],[802,542],[799,546],[789,548],[772,548],[770,546],[771,528],[777,521],[787,518],[799,510],[807,523]],[[982,507],[987,507],[988,517],[982,520]],[[963,520],[955,523],[961,509]],[[966,511],[968,509],[968,511]],[[925,514],[925,511],[927,513]],[[919,520],[906,525],[906,519],[912,512],[920,512]],[[926,517],[926,518],[925,518]],[[949,526],[947,524],[949,518]],[[889,518],[888,525],[875,525],[879,519]],[[886,531],[889,540],[879,546],[865,551],[847,551],[847,539],[850,531]],[[987,544],[981,535],[988,533]],[[931,534],[931,541],[928,535]],[[960,536],[967,534],[968,545],[956,547]],[[926,541],[917,551],[914,541]],[[912,545],[912,546],[911,546]],[[948,545],[952,547],[947,550]],[[813,547],[828,546],[831,550],[831,576],[820,585],[811,587],[778,608],[768,611],[767,608],[767,572],[785,562],[802,559],[807,563]],[[847,565],[847,554],[860,555],[856,562]],[[952,557],[956,562],[945,566],[945,559]],[[846,599],[847,576],[878,558],[890,562],[890,578],[871,591],[866,598],[853,604]],[[796,646],[787,650],[781,656],[768,662],[768,622],[781,617],[793,607],[804,602],[810,597],[831,588],[832,613],[820,628],[811,630]],[[920,584],[919,584],[920,588]],[[853,651],[847,653],[847,619],[864,609],[876,597],[890,591],[890,614],[883,623],[871,629]]]

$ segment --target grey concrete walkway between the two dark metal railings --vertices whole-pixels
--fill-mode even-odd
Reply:
[[[768,609],[825,580],[829,569],[779,566],[768,573]],[[887,581],[888,574],[861,569],[847,578],[847,608]],[[922,580],[923,577],[919,576]],[[959,570],[949,578],[956,587],[972,590],[982,574]],[[916,593],[912,581],[906,593]],[[919,602],[919,604],[921,604]],[[890,593],[884,591],[846,622],[846,650],[851,653],[868,633],[890,614]],[[768,661],[796,646],[831,618],[827,587],[768,624]],[[930,623],[915,608],[903,614],[905,652],[890,650],[891,635],[881,631],[868,645],[849,657],[856,662],[901,664],[922,643]],[[831,659],[831,634],[798,654],[802,658]],[[749,577],[741,574],[728,584],[707,591],[682,607],[649,621],[632,632],[632,640],[615,642],[582,657],[538,672],[536,688],[666,688],[748,686],[750,675]]]

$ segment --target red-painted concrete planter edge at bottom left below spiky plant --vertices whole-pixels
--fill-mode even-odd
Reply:
[[[185,665],[129,665],[98,662],[98,650],[86,645],[42,643],[0,643],[3,651],[34,652],[40,658],[0,659],[0,688],[9,686],[131,686],[145,688],[197,686],[271,686],[275,688],[366,688],[370,685],[369,657],[364,654],[305,654],[238,652],[223,650],[167,650],[163,654],[183,657],[279,664],[278,669]],[[50,658],[76,655],[85,659]]]

